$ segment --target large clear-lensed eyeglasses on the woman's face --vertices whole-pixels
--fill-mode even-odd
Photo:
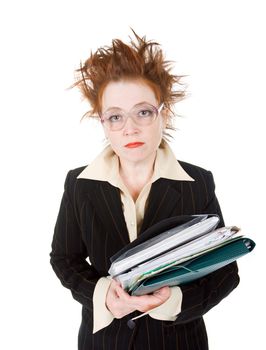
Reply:
[[[111,131],[119,131],[123,129],[129,117],[139,126],[151,125],[162,109],[163,103],[156,108],[145,102],[137,104],[129,112],[125,112],[120,108],[110,108],[100,115],[100,118],[101,122]]]

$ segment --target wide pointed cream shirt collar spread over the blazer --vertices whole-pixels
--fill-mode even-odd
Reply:
[[[107,181],[111,185],[120,187],[121,179],[119,174],[118,156],[107,146],[78,176],[78,179],[89,179]],[[194,181],[180,163],[171,150],[168,143],[163,140],[157,150],[154,165],[154,173],[151,182],[159,178],[166,178],[177,181]]]

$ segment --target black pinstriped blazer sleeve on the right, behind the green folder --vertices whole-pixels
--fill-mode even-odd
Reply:
[[[207,172],[206,188],[209,193],[203,213],[218,214],[219,226],[224,226],[224,221],[218,200],[215,195],[215,185],[211,172]],[[183,299],[181,313],[175,324],[192,321],[203,316],[212,307],[224,299],[239,283],[237,263],[233,262],[195,282],[180,286]]]

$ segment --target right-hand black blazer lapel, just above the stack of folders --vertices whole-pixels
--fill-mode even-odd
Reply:
[[[160,220],[178,215],[179,182],[160,178],[152,184],[140,234]]]

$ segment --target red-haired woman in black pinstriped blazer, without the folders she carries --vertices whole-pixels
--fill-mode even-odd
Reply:
[[[208,349],[202,316],[238,284],[236,263],[196,282],[130,296],[108,278],[110,257],[159,221],[222,214],[212,174],[178,162],[165,140],[172,107],[184,97],[159,45],[134,33],[92,53],[78,85],[109,145],[68,172],[51,264],[82,304],[78,349]],[[90,263],[86,259],[89,259]],[[128,321],[141,313],[135,327]]]

